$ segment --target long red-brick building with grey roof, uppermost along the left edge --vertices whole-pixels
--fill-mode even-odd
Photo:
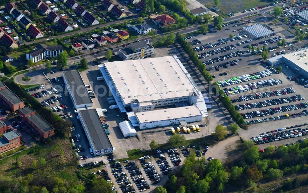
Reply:
[[[0,82],[0,106],[15,112],[23,108],[25,105],[17,95],[14,94],[5,84]]]

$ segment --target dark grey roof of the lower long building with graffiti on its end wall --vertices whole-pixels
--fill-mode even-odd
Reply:
[[[94,150],[113,148],[95,109],[80,110],[78,114],[83,120]]]

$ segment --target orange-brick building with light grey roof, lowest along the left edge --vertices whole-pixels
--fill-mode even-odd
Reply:
[[[0,153],[6,152],[20,145],[20,136],[18,133],[15,131],[3,133],[3,137],[0,138]]]

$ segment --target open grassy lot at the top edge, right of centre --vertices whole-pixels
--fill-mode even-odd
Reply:
[[[213,0],[198,0],[198,2],[205,5],[209,9],[212,6],[215,6]],[[270,0],[250,0],[250,1],[226,0],[226,1],[220,1],[220,5],[218,7],[220,8],[221,12],[229,14],[231,12],[236,13],[242,10],[248,10],[249,8],[265,5],[272,2],[273,1]]]

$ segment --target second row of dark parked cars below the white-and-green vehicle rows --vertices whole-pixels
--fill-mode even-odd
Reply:
[[[279,105],[279,104],[284,104],[284,103],[289,103],[289,102],[295,102],[295,101],[300,101],[300,100],[305,100],[305,98],[302,97],[301,95],[294,95],[291,97],[268,99],[268,100],[264,100],[261,102],[255,102],[255,103],[245,103],[245,104],[235,105],[234,107],[236,110],[253,109],[253,108],[262,108],[265,106],[272,106],[272,105]]]

